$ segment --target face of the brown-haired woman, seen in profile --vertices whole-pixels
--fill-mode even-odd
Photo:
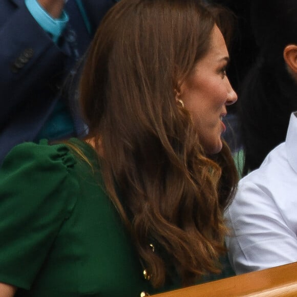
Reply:
[[[226,130],[222,122],[227,114],[226,105],[237,100],[237,94],[226,76],[228,61],[225,40],[215,26],[207,53],[182,83],[177,98],[184,102],[184,108],[192,116],[201,144],[208,154],[221,151],[221,134]]]

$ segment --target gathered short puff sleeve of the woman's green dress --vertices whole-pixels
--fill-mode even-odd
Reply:
[[[17,145],[0,169],[0,282],[29,289],[71,216],[78,182],[64,144]]]

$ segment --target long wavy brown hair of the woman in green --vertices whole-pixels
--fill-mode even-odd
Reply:
[[[214,11],[194,0],[121,0],[102,20],[80,81],[107,193],[155,287],[168,262],[188,284],[218,272],[225,251],[223,210],[236,168],[225,143],[205,154],[175,98],[224,23]]]

